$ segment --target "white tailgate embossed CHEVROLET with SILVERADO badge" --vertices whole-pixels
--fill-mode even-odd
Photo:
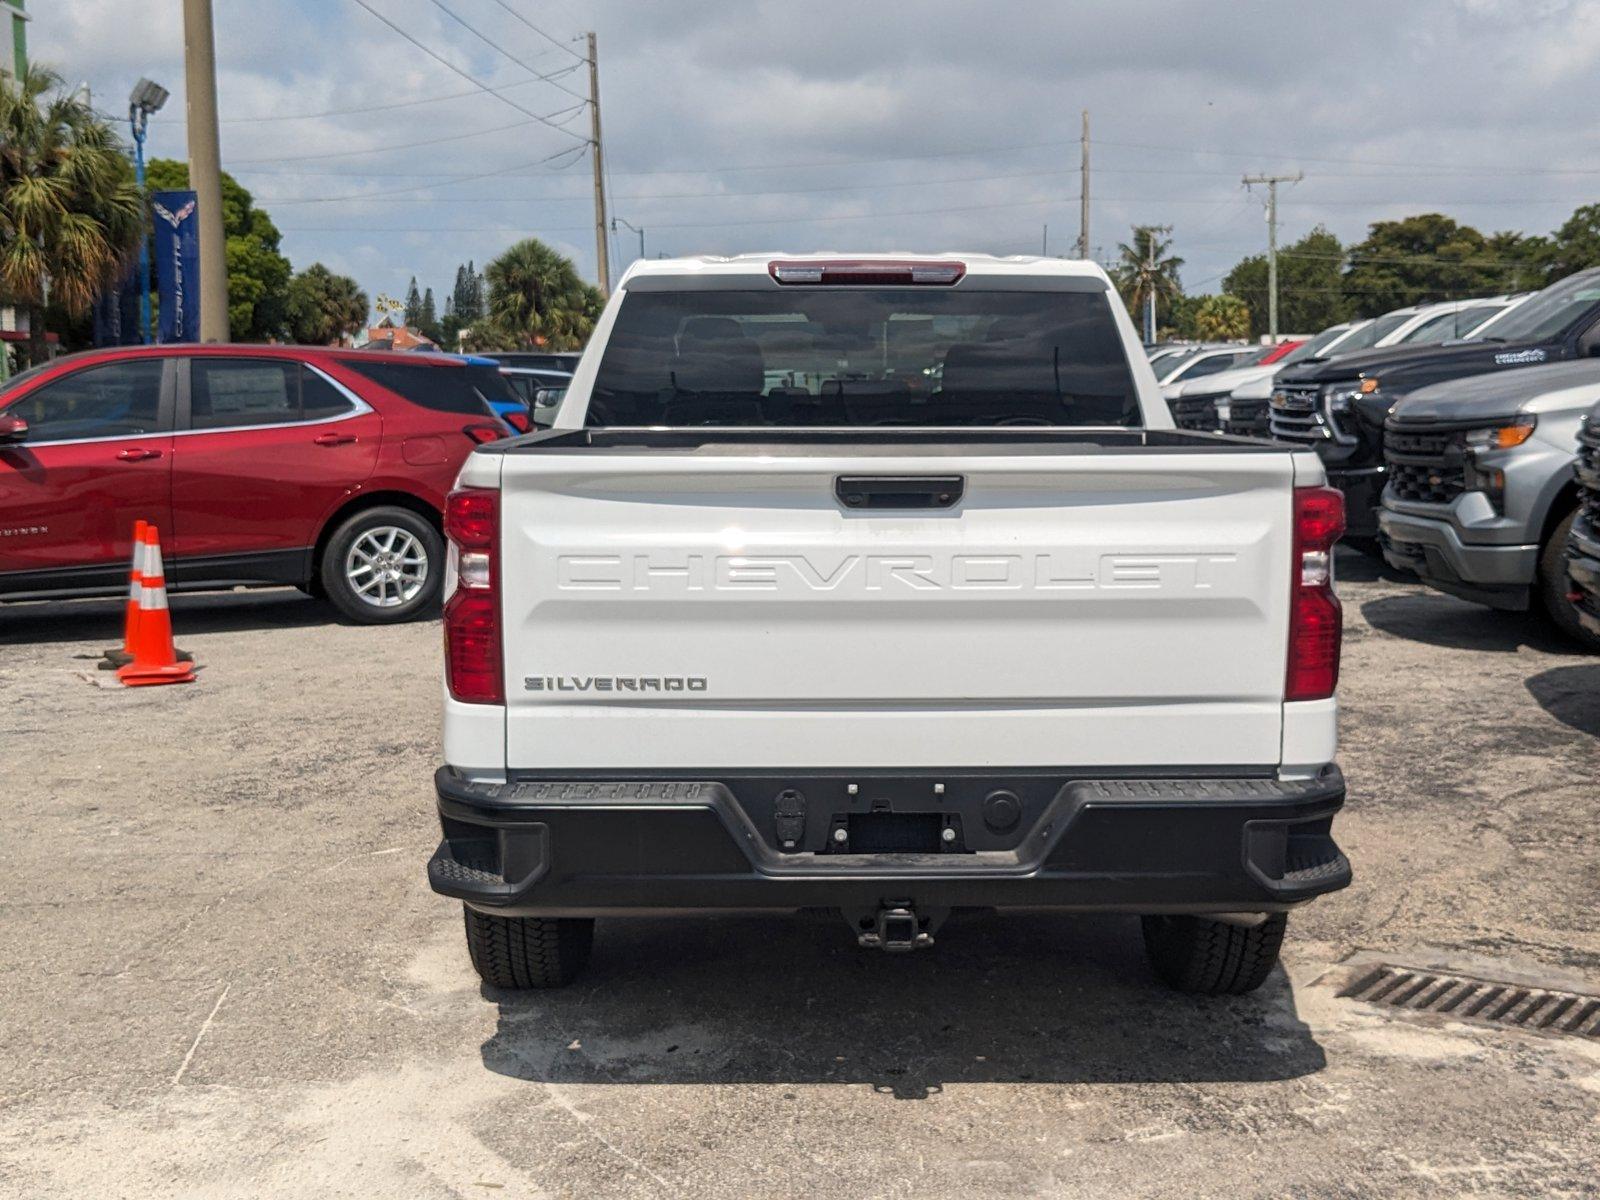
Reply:
[[[1293,486],[1224,445],[509,453],[507,766],[1275,765]]]

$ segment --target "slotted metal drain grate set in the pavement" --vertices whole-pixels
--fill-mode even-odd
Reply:
[[[1456,1021],[1483,1021],[1600,1038],[1600,995],[1582,992],[1560,992],[1379,963],[1357,971],[1354,979],[1339,989],[1339,995]]]

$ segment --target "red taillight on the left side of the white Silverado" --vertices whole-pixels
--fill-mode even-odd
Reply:
[[[445,685],[464,704],[504,704],[499,618],[499,493],[461,488],[445,501],[456,590],[445,602]]]

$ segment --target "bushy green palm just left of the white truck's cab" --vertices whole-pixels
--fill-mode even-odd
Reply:
[[[486,328],[474,344],[568,350],[584,344],[600,317],[600,290],[584,283],[571,259],[538,238],[518,242],[483,272]]]

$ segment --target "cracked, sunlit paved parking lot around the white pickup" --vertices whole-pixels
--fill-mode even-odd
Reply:
[[[422,874],[435,622],[178,597],[200,682],[122,691],[117,602],[0,608],[0,1194],[1595,1195],[1600,1040],[1325,976],[1600,984],[1600,662],[1339,566],[1357,882],[1238,1000],[1048,917],[602,922],[490,994]]]

